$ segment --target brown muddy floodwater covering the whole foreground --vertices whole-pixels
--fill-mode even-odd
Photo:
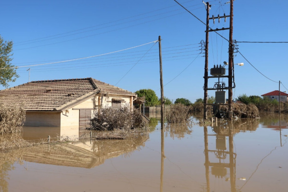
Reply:
[[[287,115],[197,122],[0,152],[0,191],[288,191]]]

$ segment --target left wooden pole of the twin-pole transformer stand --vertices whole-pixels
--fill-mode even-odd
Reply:
[[[204,115],[203,119],[207,119],[207,96],[208,96],[208,44],[209,44],[209,2],[207,5],[206,14],[206,42],[205,42],[205,71],[204,71]]]

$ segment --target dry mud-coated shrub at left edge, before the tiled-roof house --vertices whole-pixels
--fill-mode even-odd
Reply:
[[[7,107],[0,102],[0,134],[19,132],[25,117],[24,104]]]

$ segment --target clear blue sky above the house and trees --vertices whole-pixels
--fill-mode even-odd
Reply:
[[[227,1],[209,1],[210,17],[229,15]],[[202,0],[178,2],[206,22]],[[288,41],[287,7],[288,2],[280,0],[234,1],[233,39]],[[19,66],[20,77],[11,86],[27,83],[30,68],[30,81],[93,77],[132,92],[153,89],[160,97],[158,43],[150,42],[161,35],[164,96],[192,102],[204,96],[200,41],[205,40],[206,26],[173,0],[4,0],[1,15],[0,34],[14,42],[12,63]],[[229,27],[229,18],[226,22],[216,19],[215,24],[210,20],[210,26]],[[218,33],[229,39],[228,30]],[[135,47],[138,45],[143,46]],[[279,80],[288,88],[288,43],[237,45],[257,70],[276,83],[236,53],[234,63],[243,62],[244,66],[235,66],[235,98],[278,90]],[[124,50],[130,47],[135,48]],[[120,50],[124,51],[116,52]],[[115,53],[107,54],[111,52]],[[86,59],[60,62],[76,58]],[[209,69],[223,61],[228,62],[228,42],[210,32]],[[52,62],[59,63],[47,64]],[[209,79],[208,87],[213,87],[214,81]],[[283,85],[281,91],[288,92]],[[208,95],[215,96],[215,91]]]

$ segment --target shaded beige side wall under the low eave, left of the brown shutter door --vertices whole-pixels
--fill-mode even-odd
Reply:
[[[59,112],[26,111],[24,126],[60,127]]]

